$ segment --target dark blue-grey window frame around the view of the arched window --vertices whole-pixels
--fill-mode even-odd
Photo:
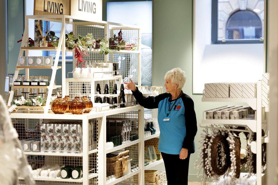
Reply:
[[[212,0],[212,8],[211,8],[211,43],[212,44],[263,44],[263,40],[226,40],[222,42],[222,40],[218,40],[218,0]],[[263,27],[263,25],[262,25]]]

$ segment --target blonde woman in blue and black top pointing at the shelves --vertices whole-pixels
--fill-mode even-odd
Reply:
[[[144,97],[134,82],[125,82],[126,89],[145,108],[158,108],[160,139],[158,148],[165,164],[168,185],[187,185],[190,154],[195,152],[197,120],[191,97],[182,92],[185,72],[174,68],[165,74],[166,93]]]

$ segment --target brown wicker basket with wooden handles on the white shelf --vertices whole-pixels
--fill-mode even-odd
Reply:
[[[108,176],[115,175],[116,179],[122,177],[122,161],[119,161],[119,158],[123,156],[127,156],[128,153],[115,155],[115,154],[107,154],[106,155],[106,174]]]

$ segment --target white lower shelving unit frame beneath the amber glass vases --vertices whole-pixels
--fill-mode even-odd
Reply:
[[[131,111],[137,111],[138,112],[138,136],[139,139],[136,141],[131,141],[128,143],[125,143],[123,145],[114,147],[112,149],[106,150],[106,118],[109,116],[114,116],[116,114],[126,114]],[[40,121],[44,120],[55,120],[55,121],[64,121],[64,120],[80,120],[82,121],[82,146],[83,146],[83,153],[80,154],[72,154],[72,153],[44,153],[44,152],[24,152],[25,155],[35,155],[35,156],[49,156],[54,157],[55,160],[58,160],[60,157],[81,157],[82,158],[82,166],[83,166],[83,178],[81,179],[62,179],[62,178],[34,178],[35,180],[39,181],[52,181],[52,182],[72,182],[72,183],[83,183],[91,184],[90,179],[95,178],[95,182],[97,184],[106,184],[106,154],[118,151],[120,149],[124,149],[126,147],[130,147],[133,145],[138,145],[138,153],[136,156],[138,156],[138,166],[139,170],[136,170],[135,172],[132,172],[130,174],[127,174],[125,176],[122,176],[121,178],[116,179],[114,182],[110,182],[109,184],[116,184],[118,182],[121,182],[127,178],[130,178],[136,174],[138,176],[137,182],[140,185],[144,184],[144,108],[137,105],[137,106],[131,106],[131,107],[124,107],[124,108],[118,108],[118,109],[111,109],[107,111],[101,111],[101,112],[95,112],[91,111],[90,113],[83,114],[83,115],[72,115],[72,114],[39,114],[39,113],[11,113],[10,117],[12,119],[36,119]],[[95,119],[97,120],[97,136],[98,136],[98,147],[97,149],[94,149],[92,151],[89,151],[88,147],[88,139],[89,139],[89,120]],[[28,127],[28,125],[27,125]],[[88,170],[88,166],[90,165],[89,161],[89,155],[96,153],[97,154],[97,161],[95,163],[97,164],[97,173],[91,173]],[[76,160],[76,159],[75,159]],[[21,177],[19,179],[22,179]],[[50,182],[51,184],[51,182]]]

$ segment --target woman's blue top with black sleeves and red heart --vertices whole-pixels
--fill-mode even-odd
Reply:
[[[160,152],[179,154],[181,148],[188,149],[188,153],[195,152],[194,137],[197,133],[197,120],[191,97],[183,92],[173,100],[170,93],[144,97],[138,88],[132,93],[141,106],[147,109],[158,108]]]

